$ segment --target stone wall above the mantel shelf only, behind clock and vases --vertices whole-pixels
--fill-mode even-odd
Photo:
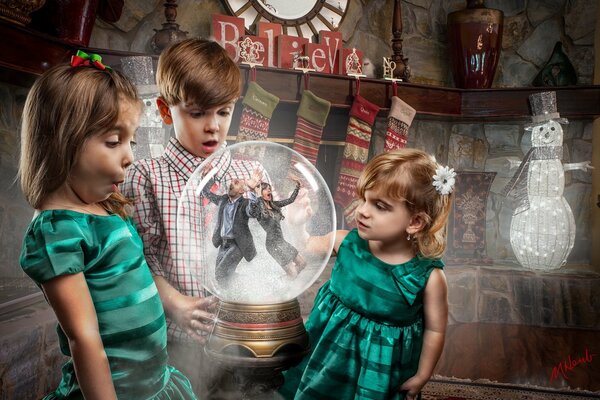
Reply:
[[[349,0],[340,24],[346,47],[356,47],[381,76],[382,57],[392,54],[391,0]],[[208,37],[212,14],[227,14],[220,0],[179,0],[177,23],[189,36]],[[446,18],[463,9],[464,0],[402,1],[403,52],[412,81],[453,86],[448,67]],[[487,0],[504,12],[502,53],[494,87],[529,86],[561,41],[575,66],[578,84],[591,84],[594,68],[594,26],[597,1]],[[160,0],[129,0],[115,24],[96,21],[90,47],[149,53],[154,29],[165,22]]]

